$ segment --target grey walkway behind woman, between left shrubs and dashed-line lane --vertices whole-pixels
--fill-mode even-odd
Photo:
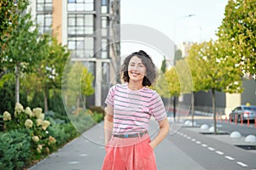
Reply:
[[[157,127],[157,122],[150,122],[149,133],[152,138],[156,134]],[[105,149],[102,144],[103,122],[90,128],[78,139],[74,139],[29,170],[100,170],[105,156]],[[154,151],[158,170],[204,170],[192,158],[172,144],[172,136],[166,138]]]

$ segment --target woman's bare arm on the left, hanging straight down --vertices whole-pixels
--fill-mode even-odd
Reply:
[[[105,145],[108,144],[108,141],[111,139],[113,129],[113,106],[107,105],[105,108],[104,116],[104,136],[105,136]]]

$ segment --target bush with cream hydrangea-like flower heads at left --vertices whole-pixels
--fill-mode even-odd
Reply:
[[[36,159],[41,155],[48,155],[55,150],[56,139],[49,134],[49,121],[44,120],[41,108],[23,108],[20,103],[15,105],[15,113],[11,115],[8,111],[3,112],[5,130],[26,128],[30,132],[31,150]]]

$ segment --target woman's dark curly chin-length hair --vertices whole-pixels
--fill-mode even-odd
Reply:
[[[132,57],[137,56],[142,59],[143,65],[146,67],[146,76],[143,78],[143,86],[151,86],[156,78],[156,69],[152,59],[143,50],[134,52],[125,58],[124,64],[122,65],[122,78],[125,82],[129,82],[130,77],[128,75],[128,65]]]

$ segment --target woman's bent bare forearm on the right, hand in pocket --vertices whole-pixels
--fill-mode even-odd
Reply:
[[[160,142],[166,138],[166,135],[169,133],[169,129],[170,129],[170,126],[169,126],[169,122],[167,120],[167,117],[162,120],[162,121],[159,121],[159,127],[160,127],[160,131],[159,133],[156,135],[156,137],[150,142],[150,146],[154,149],[156,148],[156,146],[158,144],[160,144]]]

